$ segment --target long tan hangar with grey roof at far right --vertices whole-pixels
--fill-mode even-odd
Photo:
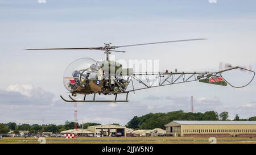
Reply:
[[[187,121],[166,124],[168,136],[256,137],[256,121]]]

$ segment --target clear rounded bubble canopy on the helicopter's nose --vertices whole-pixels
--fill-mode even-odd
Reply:
[[[64,75],[63,75],[63,83],[65,88],[68,91],[74,90],[71,87],[71,82],[78,83],[80,78],[88,78],[88,79],[94,79],[98,75],[96,74],[90,74],[90,76],[84,76],[86,73],[97,73],[97,70],[100,69],[100,66],[98,65],[98,62],[93,60],[92,58],[79,58],[75,61],[73,61],[71,64],[68,65],[68,67],[65,69]]]

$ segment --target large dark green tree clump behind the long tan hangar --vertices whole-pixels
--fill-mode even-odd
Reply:
[[[226,111],[218,114],[216,111],[192,113],[180,110],[167,113],[150,113],[140,117],[134,116],[134,118],[127,123],[126,127],[133,129],[166,129],[164,125],[173,120],[229,120],[228,118],[229,114]],[[239,115],[236,115],[233,120],[256,120],[256,116],[249,119],[240,119]]]

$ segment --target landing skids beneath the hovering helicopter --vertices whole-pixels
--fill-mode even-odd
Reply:
[[[115,95],[115,99],[114,100],[96,100],[95,99],[96,94],[93,95],[93,100],[85,100],[86,95],[84,95],[84,100],[76,100],[76,99],[72,98],[71,95],[68,95],[68,97],[71,100],[64,99],[60,95],[60,98],[63,99],[65,102],[129,102],[129,100],[127,100],[128,99],[128,93],[126,93],[126,100],[117,100],[117,94]]]

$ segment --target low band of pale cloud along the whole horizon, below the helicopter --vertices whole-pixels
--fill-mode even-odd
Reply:
[[[8,91],[7,91],[8,90]],[[24,92],[23,92],[24,91]],[[74,104],[63,100],[52,100],[53,94],[32,85],[11,85],[0,90],[1,122],[63,124],[74,120]],[[148,99],[149,98],[149,99]],[[151,98],[151,99],[150,99]],[[157,100],[158,99],[158,100]],[[195,112],[214,110],[228,111],[230,118],[235,114],[251,117],[256,114],[256,103],[248,102],[240,106],[224,106],[219,97],[195,98]],[[102,124],[120,123],[125,125],[135,115],[150,112],[190,111],[190,98],[185,96],[155,97],[147,100],[131,99],[129,103],[79,103],[77,104],[79,123],[96,122]]]

